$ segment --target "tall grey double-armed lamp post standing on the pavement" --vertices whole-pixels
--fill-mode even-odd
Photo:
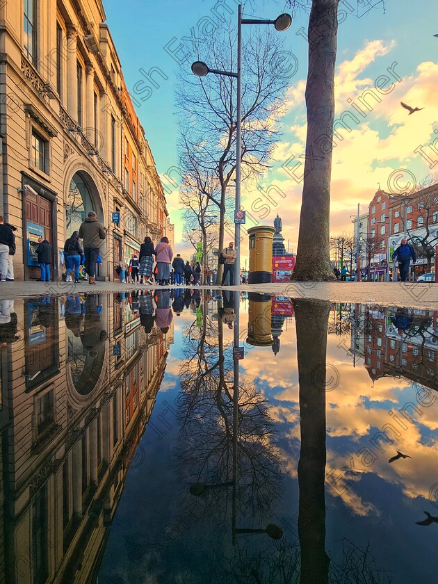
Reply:
[[[237,10],[237,73],[211,69],[203,61],[195,61],[192,64],[192,72],[204,77],[208,73],[225,75],[237,79],[237,120],[236,120],[236,202],[235,211],[241,209],[241,153],[242,153],[242,24],[273,24],[275,30],[282,32],[289,29],[292,24],[292,17],[289,14],[281,14],[275,20],[242,18],[242,5],[238,5]],[[234,248],[236,250],[236,260],[234,261],[234,282],[240,284],[241,274],[241,224],[234,223]]]

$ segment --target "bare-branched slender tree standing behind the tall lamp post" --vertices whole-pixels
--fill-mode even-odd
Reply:
[[[236,34],[228,25],[198,47],[198,58],[221,71],[236,70]],[[242,180],[268,168],[278,137],[277,121],[287,86],[286,63],[278,59],[282,42],[266,30],[251,30],[245,38],[242,79]],[[284,67],[284,71],[282,70]],[[219,212],[219,249],[224,247],[225,216],[236,170],[236,80],[209,74],[180,76],[177,88],[181,170],[198,168],[216,176],[219,193],[205,195]],[[189,162],[189,163],[188,163]],[[227,196],[228,193],[228,196]],[[218,277],[222,266],[218,263]]]

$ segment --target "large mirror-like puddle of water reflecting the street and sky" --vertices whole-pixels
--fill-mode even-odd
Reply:
[[[438,302],[88,292],[0,301],[0,582],[437,581]]]

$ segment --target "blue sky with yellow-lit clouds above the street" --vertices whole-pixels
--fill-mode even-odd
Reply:
[[[233,11],[229,17],[236,22],[236,2],[222,3]],[[357,0],[341,0],[339,4],[335,120],[343,116],[349,127],[338,125],[334,140],[332,235],[352,234],[351,216],[356,216],[357,204],[361,213],[367,211],[379,185],[389,193],[409,193],[424,177],[438,171],[438,38],[433,36],[438,34],[438,4],[436,0],[418,0],[414,7],[396,0],[385,0],[384,6],[377,0],[375,3],[371,10],[365,10],[364,2]],[[218,21],[213,10],[216,4],[217,0],[104,0],[106,22],[128,90],[133,93],[136,83],[148,79],[149,74],[145,83],[151,91],[136,95],[136,111],[165,188],[178,252],[188,248],[182,241],[175,184],[175,78],[178,70],[192,75],[190,64],[195,59],[189,54],[193,46],[190,39],[200,37],[198,23],[205,26]],[[273,19],[285,11],[287,3],[282,0],[252,0],[243,7],[244,17]],[[223,7],[216,13],[227,15]],[[308,13],[302,10],[294,15],[291,28],[279,33],[284,35],[285,49],[295,64],[284,117],[270,168],[257,185],[245,185],[242,192],[243,208],[249,213],[245,227],[273,225],[279,213],[286,247],[289,244],[293,252],[302,197],[300,155],[305,152],[306,137],[307,24]],[[185,60],[179,57],[181,51],[188,54]],[[371,91],[364,94],[365,90]],[[409,115],[400,102],[424,109]],[[263,193],[272,196],[265,198]],[[260,196],[263,204],[254,206]],[[245,253],[244,243],[243,257]]]

